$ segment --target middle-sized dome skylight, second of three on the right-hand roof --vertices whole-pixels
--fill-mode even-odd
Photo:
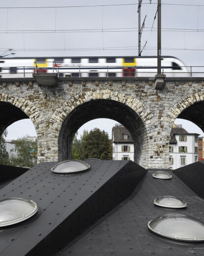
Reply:
[[[187,206],[186,202],[180,198],[173,196],[163,196],[154,200],[154,204],[168,208],[184,208]]]

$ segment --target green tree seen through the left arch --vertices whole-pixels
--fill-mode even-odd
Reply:
[[[10,165],[18,167],[34,167],[37,163],[37,139],[23,136],[15,140],[15,152],[9,158]]]

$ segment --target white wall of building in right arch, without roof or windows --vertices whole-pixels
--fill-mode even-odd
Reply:
[[[198,142],[195,141],[195,136],[192,134],[185,134],[187,141],[179,141],[179,135],[175,134],[177,140],[176,144],[170,144],[173,147],[173,152],[170,152],[170,159],[173,158],[173,164],[170,164],[170,169],[177,169],[182,166],[190,165],[198,161],[199,153],[196,153],[195,147],[198,148]],[[179,147],[187,147],[187,152],[179,152]],[[181,158],[185,159],[185,163],[182,163]],[[172,161],[172,160],[171,160]],[[172,163],[172,162],[171,162]]]

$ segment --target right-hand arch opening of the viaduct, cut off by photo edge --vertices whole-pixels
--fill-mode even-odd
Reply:
[[[192,102],[176,117],[170,134],[170,169],[175,170],[203,160],[203,113],[202,100]]]

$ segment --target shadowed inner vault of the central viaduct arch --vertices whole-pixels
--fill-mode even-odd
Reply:
[[[109,99],[90,100],[68,114],[59,132],[58,160],[71,159],[74,134],[85,123],[98,118],[112,119],[128,129],[134,141],[134,161],[145,167],[148,139],[142,119],[129,106]]]

